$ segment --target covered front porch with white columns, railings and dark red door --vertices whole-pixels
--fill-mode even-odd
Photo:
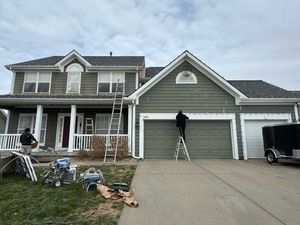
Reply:
[[[20,135],[25,128],[31,128],[31,133],[39,140],[38,147],[32,149],[32,155],[46,155],[48,147],[60,148],[62,155],[76,155],[79,149],[89,151],[93,134],[86,131],[86,119],[93,120],[94,135],[106,137],[107,141],[111,114],[112,105],[109,104],[15,106],[8,111],[5,134],[0,134],[0,150],[3,155],[19,151]],[[123,105],[119,134],[128,139],[130,151],[133,116],[132,105]],[[118,126],[113,125],[111,134],[116,136],[117,130]]]

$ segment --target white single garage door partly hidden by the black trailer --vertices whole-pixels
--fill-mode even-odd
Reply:
[[[245,120],[248,158],[264,158],[262,126],[285,123],[285,120]]]

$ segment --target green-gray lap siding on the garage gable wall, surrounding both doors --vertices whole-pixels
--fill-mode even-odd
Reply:
[[[247,105],[240,109],[232,95],[193,66],[197,84],[176,84],[176,76],[184,65],[185,62],[140,96],[136,121],[140,113],[178,113],[178,110],[183,113],[235,113],[238,155],[243,156],[239,113],[291,113],[292,120],[295,119],[293,105]],[[140,128],[135,127],[136,156],[139,156],[139,132]]]

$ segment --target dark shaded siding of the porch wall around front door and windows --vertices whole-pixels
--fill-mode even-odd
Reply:
[[[19,126],[19,115],[20,113],[36,113],[35,108],[15,108],[10,110],[10,118],[8,122],[8,134],[17,134]],[[47,113],[47,127],[46,127],[46,138],[45,146],[41,146],[41,149],[47,149],[48,147],[55,147],[56,142],[56,131],[57,131],[57,118],[58,113],[71,113],[70,108],[44,108],[43,113]],[[83,134],[85,134],[85,119],[93,118],[94,129],[96,122],[96,113],[112,113],[112,109],[103,108],[103,109],[93,109],[93,108],[77,108],[76,113],[84,113],[83,121]],[[123,125],[123,134],[128,134],[128,108],[123,109],[124,113],[124,125]],[[4,132],[3,132],[4,133]]]

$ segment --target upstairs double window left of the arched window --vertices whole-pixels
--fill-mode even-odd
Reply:
[[[51,72],[26,72],[23,93],[49,93]]]

